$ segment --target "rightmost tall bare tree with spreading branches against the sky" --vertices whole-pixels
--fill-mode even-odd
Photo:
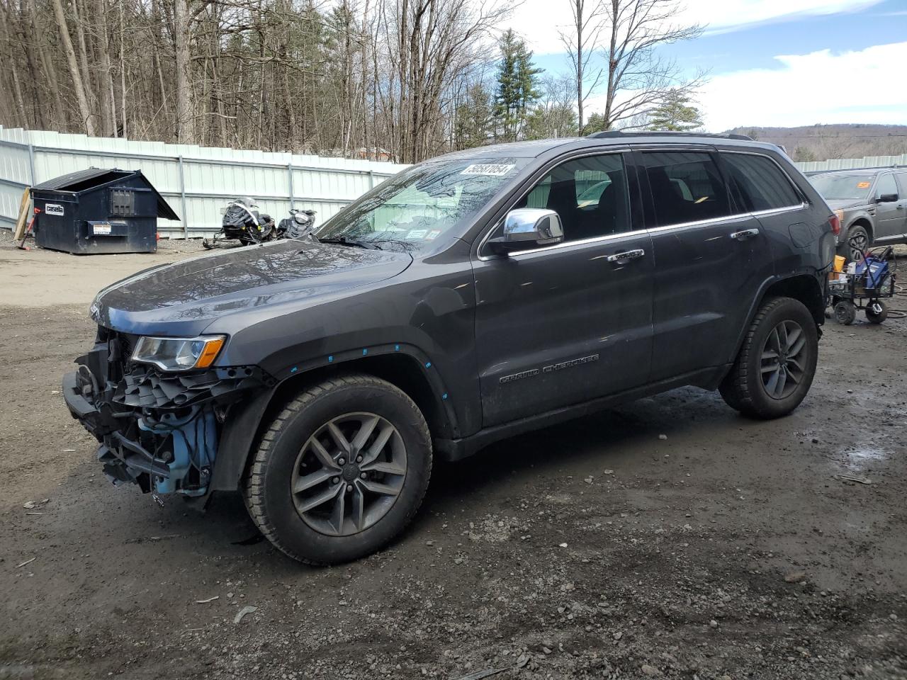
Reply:
[[[634,117],[643,120],[671,92],[689,94],[703,83],[705,73],[685,76],[677,63],[658,54],[663,45],[702,33],[700,25],[677,23],[681,9],[678,0],[605,0],[606,130]]]

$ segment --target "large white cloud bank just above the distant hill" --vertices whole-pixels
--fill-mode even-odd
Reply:
[[[907,63],[907,43],[775,59],[782,68],[725,73],[707,83],[697,99],[708,130],[740,125],[907,123],[907,88],[898,77],[901,65]]]

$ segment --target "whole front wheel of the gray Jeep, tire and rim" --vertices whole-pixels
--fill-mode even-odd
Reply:
[[[432,471],[423,414],[395,385],[342,375],[290,401],[253,454],[244,495],[258,529],[315,565],[364,557],[413,519]]]

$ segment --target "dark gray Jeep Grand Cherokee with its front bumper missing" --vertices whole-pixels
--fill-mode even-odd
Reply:
[[[785,154],[745,138],[452,153],[313,238],[105,288],[65,399],[114,483],[239,490],[290,557],[356,559],[413,518],[435,456],[681,385],[790,413],[836,229]]]

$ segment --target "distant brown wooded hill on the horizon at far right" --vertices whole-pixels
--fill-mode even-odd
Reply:
[[[907,125],[805,125],[734,128],[759,141],[781,144],[794,160],[862,158],[907,153]]]

